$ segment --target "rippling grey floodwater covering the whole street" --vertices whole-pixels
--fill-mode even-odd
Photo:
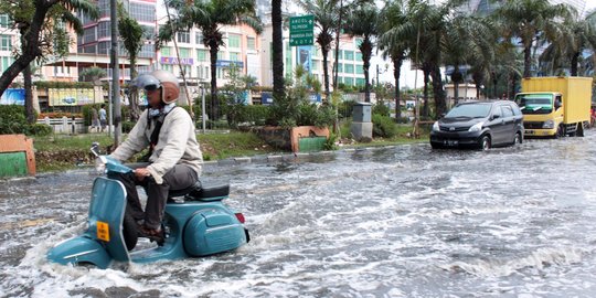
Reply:
[[[86,226],[89,169],[0,182],[0,296],[596,297],[596,131],[207,166],[252,242],[106,270],[50,264]]]

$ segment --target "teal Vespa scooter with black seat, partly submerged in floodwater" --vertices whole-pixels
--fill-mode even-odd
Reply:
[[[132,251],[138,241],[137,223],[126,214],[126,190],[110,173],[127,173],[132,168],[92,147],[96,166],[108,178],[93,183],[88,227],[83,235],[56,244],[47,253],[50,262],[95,265],[107,268],[113,262],[149,263],[159,259],[207,256],[236,249],[249,241],[244,215],[232,212],[223,202],[230,185],[195,185],[170,191],[162,228],[166,237],[158,246]]]

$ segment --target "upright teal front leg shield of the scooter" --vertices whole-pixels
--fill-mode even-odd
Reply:
[[[130,256],[123,235],[123,219],[126,211],[126,189],[120,181],[99,177],[93,183],[89,206],[88,235],[104,243],[108,254],[118,262],[129,262]],[[109,240],[102,240],[98,228],[106,223]],[[105,226],[105,225],[103,225]]]

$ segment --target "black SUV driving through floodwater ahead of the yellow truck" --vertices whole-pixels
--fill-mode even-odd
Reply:
[[[433,125],[430,146],[436,148],[491,147],[523,141],[523,115],[514,102],[467,102],[455,106]]]

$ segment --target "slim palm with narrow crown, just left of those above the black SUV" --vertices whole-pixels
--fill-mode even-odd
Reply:
[[[402,25],[406,25],[407,22],[407,3],[403,0],[394,0],[385,3],[385,7],[379,15],[379,49],[383,51],[383,57],[387,56],[393,63],[393,78],[395,81],[395,118],[402,117],[401,108],[401,94],[400,94],[400,76],[402,71],[402,64],[407,57],[411,43],[408,41],[415,41],[416,31],[413,32],[413,36],[391,39],[395,38],[394,30],[398,30]],[[393,34],[393,35],[392,35]]]

